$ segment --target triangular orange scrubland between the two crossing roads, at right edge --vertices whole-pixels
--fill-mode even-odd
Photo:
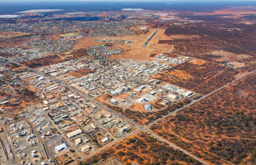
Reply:
[[[151,127],[209,163],[255,164],[256,74]]]

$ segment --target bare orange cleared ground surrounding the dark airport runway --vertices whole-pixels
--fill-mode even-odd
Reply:
[[[120,58],[126,59],[138,59],[138,60],[148,60],[150,59],[151,53],[163,53],[167,50],[172,50],[173,46],[168,44],[158,44],[160,39],[170,39],[170,37],[164,35],[164,29],[159,29],[156,35],[152,38],[150,43],[147,46],[142,46],[147,39],[155,32],[155,28],[151,28],[147,33],[141,33],[140,35],[134,36],[122,36],[114,37],[114,40],[125,40],[133,41],[129,44],[119,44],[114,43],[112,48],[122,48],[124,51],[119,56]],[[100,44],[105,44],[105,42],[100,42],[101,40],[108,41],[109,39],[113,40],[113,37],[85,37],[84,39],[79,40],[75,49],[88,48],[89,46],[95,46]],[[115,56],[114,58],[116,58]]]

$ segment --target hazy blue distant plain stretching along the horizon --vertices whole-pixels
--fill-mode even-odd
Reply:
[[[24,10],[39,10],[39,9],[61,9],[65,11],[119,11],[123,8],[140,8],[145,10],[193,10],[205,11],[223,9],[232,6],[256,6],[255,1],[202,1],[202,0],[183,0],[183,1],[120,1],[120,0],[0,0],[0,14],[14,14],[15,12]],[[102,3],[102,5],[101,5]],[[166,5],[168,3],[168,5]],[[97,5],[96,5],[97,4]],[[152,5],[154,4],[154,5]]]

